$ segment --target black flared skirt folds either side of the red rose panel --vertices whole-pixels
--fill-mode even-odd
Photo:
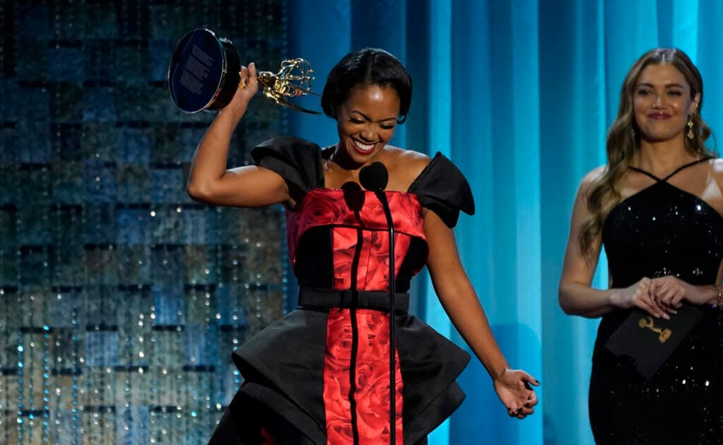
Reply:
[[[283,416],[318,444],[326,444],[322,387],[326,320],[324,311],[294,310],[233,355],[245,380],[239,393]],[[455,379],[470,357],[411,315],[398,315],[395,325],[404,383],[404,443],[415,444],[463,401]]]

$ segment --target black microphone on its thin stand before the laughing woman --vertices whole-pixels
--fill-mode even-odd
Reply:
[[[381,162],[372,162],[359,171],[359,182],[361,186],[367,190],[371,190],[377,195],[382,203],[384,216],[387,219],[389,228],[389,443],[395,445],[396,440],[396,397],[395,397],[395,360],[396,349],[394,341],[394,294],[396,290],[394,279],[394,223],[392,221],[392,212],[389,208],[389,201],[384,189],[389,182],[389,171]]]

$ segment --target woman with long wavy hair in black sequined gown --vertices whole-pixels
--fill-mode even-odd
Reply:
[[[578,190],[560,305],[602,316],[589,393],[598,444],[723,440],[723,163],[703,145],[702,105],[688,56],[643,54],[623,82],[607,165]],[[602,246],[608,290],[591,288]]]

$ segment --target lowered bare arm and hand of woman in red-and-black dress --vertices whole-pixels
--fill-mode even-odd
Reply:
[[[528,373],[510,369],[502,355],[487,315],[462,267],[454,232],[436,213],[425,210],[424,234],[429,244],[427,268],[442,307],[492,377],[508,414],[517,418],[530,415],[537,397],[529,385],[539,383]]]

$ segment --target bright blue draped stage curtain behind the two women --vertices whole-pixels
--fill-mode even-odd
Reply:
[[[380,46],[406,63],[414,99],[394,142],[441,151],[466,174],[477,213],[455,231],[463,263],[510,365],[543,384],[536,414],[511,420],[473,360],[461,376],[466,401],[430,444],[593,444],[587,390],[598,321],[557,304],[573,200],[586,171],[604,164],[623,77],[650,48],[691,56],[706,82],[703,119],[722,127],[722,4],[290,0],[289,9],[291,56],[317,67],[318,88],[350,49]],[[330,119],[288,119],[294,134],[336,141]],[[604,257],[594,286],[607,287]],[[463,344],[427,276],[414,293],[416,313]]]

